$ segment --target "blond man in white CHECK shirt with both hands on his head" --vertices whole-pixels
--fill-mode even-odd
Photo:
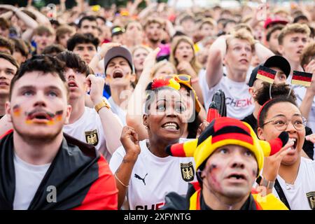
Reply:
[[[253,52],[260,62],[272,56],[248,31],[240,29],[232,35],[220,36],[209,49],[205,80],[200,77],[204,94],[204,104],[209,108],[216,90],[225,92],[228,117],[242,119],[253,112],[252,97],[246,85],[246,73],[251,64]],[[227,73],[223,73],[223,62]]]

